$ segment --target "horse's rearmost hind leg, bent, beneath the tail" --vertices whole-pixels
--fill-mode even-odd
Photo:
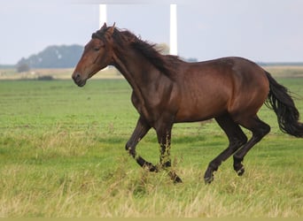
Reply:
[[[253,118],[246,118],[239,120],[240,125],[245,126],[248,130],[252,131],[253,137],[248,141],[242,149],[239,149],[234,155],[234,169],[237,174],[241,176],[245,170],[242,161],[247,152],[259,142],[270,131],[270,126],[260,120],[257,116]]]

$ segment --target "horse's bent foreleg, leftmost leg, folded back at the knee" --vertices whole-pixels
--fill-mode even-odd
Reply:
[[[144,168],[148,168],[149,171],[158,171],[155,165],[147,162],[142,156],[139,156],[136,153],[136,145],[139,141],[141,141],[142,138],[144,138],[144,135],[148,133],[150,129],[151,126],[149,126],[143,118],[139,118],[136,123],[136,128],[128,140],[125,149],[128,150],[130,156],[133,156],[136,159],[137,164]]]

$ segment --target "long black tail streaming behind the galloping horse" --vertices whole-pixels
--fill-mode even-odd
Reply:
[[[266,72],[269,80],[269,94],[266,105],[276,112],[281,131],[296,137],[303,137],[303,124],[299,123],[299,111],[297,110],[288,89],[276,82]]]

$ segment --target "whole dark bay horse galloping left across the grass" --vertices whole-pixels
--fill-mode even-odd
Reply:
[[[83,87],[95,73],[113,65],[128,80],[133,89],[131,101],[140,117],[126,149],[142,167],[158,171],[171,166],[174,123],[214,118],[228,136],[229,146],[208,164],[204,179],[212,182],[214,171],[231,155],[234,170],[242,175],[245,155],[270,131],[257,116],[263,103],[276,112],[284,133],[303,137],[299,111],[287,88],[259,65],[241,57],[186,63],[179,57],[160,55],[153,46],[127,30],[105,24],[92,34],[72,76]],[[249,141],[240,126],[253,133]],[[158,166],[136,153],[137,143],[151,127],[159,141]],[[174,171],[168,170],[168,174],[175,182],[182,181]]]

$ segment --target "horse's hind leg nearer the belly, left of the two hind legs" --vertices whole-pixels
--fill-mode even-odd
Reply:
[[[204,175],[204,180],[206,183],[211,183],[214,180],[214,171],[218,170],[221,162],[225,161],[229,156],[241,148],[247,141],[245,133],[243,133],[240,126],[234,122],[234,120],[229,116],[229,114],[222,115],[215,118],[219,126],[227,134],[229,138],[229,147],[225,149],[221,154],[214,158],[212,162],[209,163],[206,173]]]

